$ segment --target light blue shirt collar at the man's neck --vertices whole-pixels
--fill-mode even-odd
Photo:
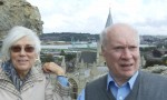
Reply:
[[[135,72],[135,74],[127,81],[127,83],[129,83],[130,89],[132,89],[137,76],[138,76],[138,71]],[[115,82],[116,83],[116,81],[112,79],[110,73],[108,73],[108,76],[107,76],[107,90],[109,90],[110,82]]]

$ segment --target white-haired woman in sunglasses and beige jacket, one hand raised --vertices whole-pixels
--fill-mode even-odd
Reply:
[[[40,54],[40,40],[24,27],[13,27],[2,44],[0,68],[1,100],[70,100],[70,83],[56,63],[46,63],[43,70],[58,76],[56,89],[50,78],[35,62]]]

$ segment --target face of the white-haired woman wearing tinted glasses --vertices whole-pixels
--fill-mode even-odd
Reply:
[[[27,37],[21,38],[10,48],[10,56],[17,72],[27,73],[37,58],[33,42]]]

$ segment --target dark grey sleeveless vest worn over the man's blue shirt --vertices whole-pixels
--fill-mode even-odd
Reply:
[[[116,100],[107,91],[107,76],[86,86],[86,100]],[[125,100],[167,100],[167,78],[139,71],[134,88]]]

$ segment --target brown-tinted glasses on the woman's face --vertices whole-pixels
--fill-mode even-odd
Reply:
[[[12,52],[20,52],[22,48],[23,47],[21,47],[21,46],[12,46],[11,51]],[[32,47],[32,46],[26,46],[23,49],[26,52],[33,52],[35,51],[35,47]]]

